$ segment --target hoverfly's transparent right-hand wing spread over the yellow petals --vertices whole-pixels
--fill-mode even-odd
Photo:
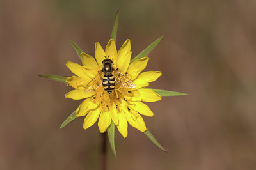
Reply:
[[[118,72],[117,70],[114,70],[113,75],[115,76],[116,82],[121,86],[125,88],[135,88],[134,82],[126,77],[124,74]]]

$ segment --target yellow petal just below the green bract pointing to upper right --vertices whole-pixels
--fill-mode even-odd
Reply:
[[[132,80],[136,79],[140,72],[142,72],[148,63],[148,57],[143,57],[141,59],[136,59],[129,65],[127,73],[131,77]]]

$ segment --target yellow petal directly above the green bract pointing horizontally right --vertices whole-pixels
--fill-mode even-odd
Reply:
[[[136,89],[148,86],[149,82],[156,81],[158,77],[162,75],[159,71],[148,71],[140,73],[140,75],[133,82],[136,85]]]

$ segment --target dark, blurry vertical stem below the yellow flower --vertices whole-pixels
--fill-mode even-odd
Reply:
[[[100,133],[100,155],[99,155],[99,168],[100,170],[106,170],[106,159],[107,159],[107,133]]]

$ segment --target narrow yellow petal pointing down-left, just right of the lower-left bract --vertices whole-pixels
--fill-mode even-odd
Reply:
[[[97,107],[97,109],[92,110],[88,113],[88,115],[84,119],[84,125],[83,125],[84,130],[91,127],[97,121],[101,111],[102,111],[102,107],[99,106]]]

